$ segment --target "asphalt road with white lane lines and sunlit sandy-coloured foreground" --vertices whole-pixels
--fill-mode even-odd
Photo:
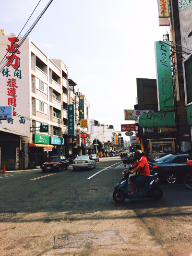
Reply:
[[[0,174],[0,256],[190,256],[192,190],[163,185],[164,195],[117,204],[113,188],[122,178],[119,157],[96,169]],[[115,231],[123,244],[54,249],[54,236]],[[112,241],[112,242],[111,242]]]

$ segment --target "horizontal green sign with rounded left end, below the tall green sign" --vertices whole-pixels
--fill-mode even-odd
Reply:
[[[174,127],[174,112],[144,113],[139,116],[139,125],[142,127]]]

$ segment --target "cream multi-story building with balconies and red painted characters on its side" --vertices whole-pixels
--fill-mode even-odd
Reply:
[[[12,118],[0,122],[1,168],[7,170],[39,166],[48,152],[65,154],[68,68],[29,38],[22,41],[0,35],[0,106],[12,108]]]

